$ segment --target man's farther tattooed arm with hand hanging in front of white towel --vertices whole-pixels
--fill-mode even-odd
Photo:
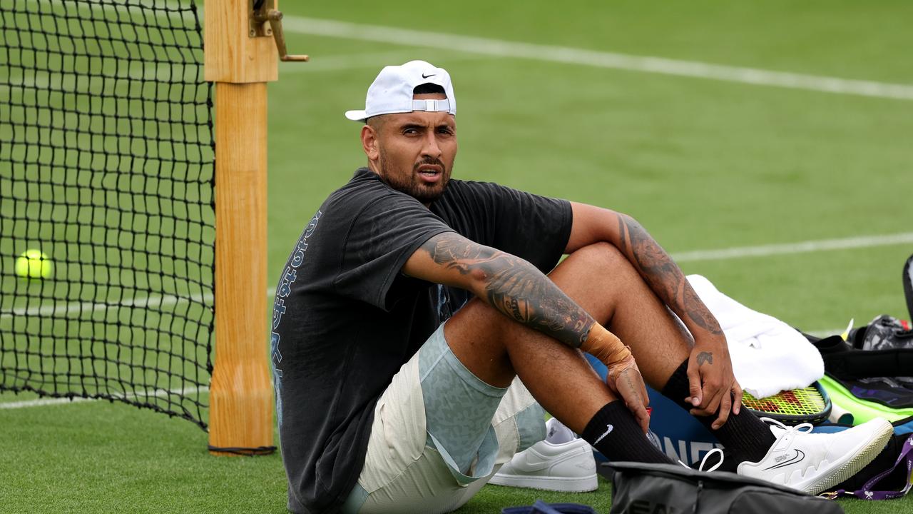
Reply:
[[[726,337],[717,319],[701,302],[685,274],[636,220],[625,214],[584,204],[572,204],[573,226],[566,252],[597,241],[614,244],[645,283],[685,323],[695,346],[688,359],[692,412],[719,414],[714,428],[738,413],[741,388],[732,373]],[[730,396],[730,392],[732,396]]]

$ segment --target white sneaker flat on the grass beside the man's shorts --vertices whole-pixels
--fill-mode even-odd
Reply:
[[[545,427],[548,436],[544,441],[514,455],[488,483],[550,491],[596,490],[599,482],[590,444],[575,439],[571,430],[554,418]]]

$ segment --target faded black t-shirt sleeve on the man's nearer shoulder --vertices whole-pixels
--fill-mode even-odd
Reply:
[[[405,262],[422,243],[446,231],[453,229],[415,198],[394,193],[373,199],[352,220],[343,241],[337,293],[389,311]]]

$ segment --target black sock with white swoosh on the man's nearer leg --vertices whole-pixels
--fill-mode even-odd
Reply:
[[[581,437],[610,461],[672,462],[650,443],[635,421],[634,414],[621,401],[606,403],[593,415],[590,423],[586,423]]]

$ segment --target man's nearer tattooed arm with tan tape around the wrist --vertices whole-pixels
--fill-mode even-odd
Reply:
[[[646,431],[646,388],[630,350],[530,262],[445,232],[425,241],[403,272],[467,289],[504,316],[603,360],[609,387]]]

